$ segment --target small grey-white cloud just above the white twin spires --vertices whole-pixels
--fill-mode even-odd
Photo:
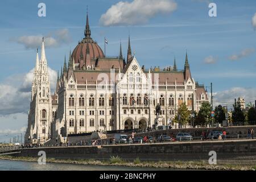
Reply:
[[[23,44],[27,49],[36,49],[42,44],[43,35],[20,36],[15,42]],[[71,42],[67,29],[57,30],[53,34],[45,36],[46,47],[58,47],[61,44]]]

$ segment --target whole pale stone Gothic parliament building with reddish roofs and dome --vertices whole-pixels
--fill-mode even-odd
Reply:
[[[88,15],[84,35],[67,61],[65,57],[53,95],[43,39],[40,59],[36,54],[25,142],[146,129],[159,118],[161,125],[167,125],[183,102],[191,111],[209,102],[204,85],[191,76],[187,53],[183,70],[177,69],[175,59],[173,67],[146,69],[131,53],[130,36],[125,59],[121,43],[118,56],[104,55],[91,38]],[[158,118],[156,105],[161,108]]]

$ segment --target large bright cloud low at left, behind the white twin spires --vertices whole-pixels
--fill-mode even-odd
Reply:
[[[49,80],[51,83],[51,91],[55,89],[57,73],[51,68],[48,68]],[[14,75],[9,77],[7,83],[0,84],[0,115],[9,115],[15,113],[27,113],[31,99],[31,84],[34,69],[24,74],[23,76]],[[11,82],[16,78],[19,81]],[[20,82],[20,85],[17,85]]]

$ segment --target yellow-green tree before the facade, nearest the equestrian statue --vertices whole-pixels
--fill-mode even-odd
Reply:
[[[179,123],[180,125],[187,125],[190,114],[191,112],[188,110],[186,103],[183,102],[183,104],[181,104],[177,110],[177,115],[175,116],[174,122]]]

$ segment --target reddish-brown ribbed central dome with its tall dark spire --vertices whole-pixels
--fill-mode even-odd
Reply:
[[[90,27],[88,15],[86,17],[86,27],[84,31],[85,38],[82,39],[81,42],[76,46],[72,53],[72,59],[75,59],[75,64],[80,63],[81,58],[86,57],[86,53],[90,54],[90,59],[97,59],[99,57],[105,57],[102,49],[98,46],[97,42],[95,42],[90,37]]]

